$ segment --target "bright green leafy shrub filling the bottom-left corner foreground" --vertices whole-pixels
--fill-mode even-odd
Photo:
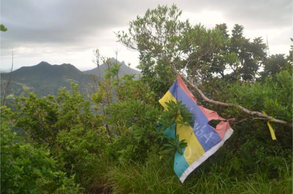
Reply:
[[[68,178],[60,169],[47,149],[35,148],[1,122],[1,193],[81,193],[74,175]]]

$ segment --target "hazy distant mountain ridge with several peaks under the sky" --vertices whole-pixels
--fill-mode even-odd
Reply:
[[[113,60],[114,58],[111,58],[111,62]],[[119,76],[136,74],[136,78],[139,77],[140,71],[129,68],[125,62],[117,61],[117,63],[121,64]],[[106,67],[106,64],[100,66],[102,78],[105,75]],[[7,100],[23,95],[24,90],[34,92],[40,97],[48,94],[57,95],[59,88],[69,89],[71,82],[79,85],[82,94],[92,94],[96,84],[92,74],[99,75],[98,67],[83,72],[71,64],[51,65],[47,62],[41,62],[38,65],[22,66],[12,71],[11,82],[7,89]],[[3,86],[5,86],[8,77],[9,73],[1,73],[0,81]],[[1,93],[3,94],[2,84]]]

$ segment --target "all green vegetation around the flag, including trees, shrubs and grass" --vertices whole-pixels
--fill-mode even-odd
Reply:
[[[56,96],[25,93],[15,111],[1,108],[1,193],[293,192],[292,128],[272,123],[273,141],[267,120],[200,98],[198,104],[235,118],[234,133],[184,184],[173,172],[175,151],[186,143],[164,130],[188,124],[191,115],[181,103],[167,103],[166,111],[158,103],[176,77],[166,59],[195,77],[208,97],[288,122],[293,116],[291,58],[266,56],[262,41],[246,39],[240,25],[228,35],[226,24],[190,26],[178,21],[180,13],[159,6],[130,22],[130,34],[117,33],[122,43],[138,46],[142,79],[120,76],[120,64],[104,60],[104,79],[90,98],[71,83]],[[149,25],[157,34],[148,34]]]

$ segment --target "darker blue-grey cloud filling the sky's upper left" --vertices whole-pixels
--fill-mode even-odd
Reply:
[[[1,1],[1,23],[9,29],[3,43],[75,43],[124,20],[117,8],[92,2]]]

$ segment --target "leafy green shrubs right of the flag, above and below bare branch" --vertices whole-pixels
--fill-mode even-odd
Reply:
[[[292,74],[286,70],[267,77],[264,82],[226,82],[214,78],[203,83],[202,88],[210,98],[238,103],[256,111],[265,111],[275,118],[292,120]],[[211,161],[222,166],[221,171],[239,174],[267,173],[268,178],[278,178],[292,161],[292,129],[288,126],[271,123],[277,137],[271,138],[267,120],[253,119],[236,108],[227,108],[204,103],[217,110],[224,118],[234,117],[231,122],[234,134],[217,151],[211,160],[202,164],[202,169],[210,170]],[[290,165],[291,166],[291,165]],[[231,168],[231,170],[230,170]],[[289,170],[291,171],[291,170]]]

